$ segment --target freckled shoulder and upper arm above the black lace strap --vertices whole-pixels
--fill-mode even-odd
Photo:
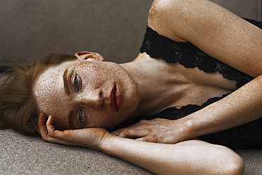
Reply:
[[[155,0],[148,26],[252,77],[262,74],[262,30],[212,1]]]

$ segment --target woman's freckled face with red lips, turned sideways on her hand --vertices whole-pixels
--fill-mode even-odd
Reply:
[[[33,91],[40,111],[54,115],[55,128],[110,128],[137,108],[135,82],[113,62],[74,60],[40,74]]]

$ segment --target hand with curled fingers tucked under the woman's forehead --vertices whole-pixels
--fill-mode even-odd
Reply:
[[[55,130],[52,125],[53,116],[50,115],[45,124],[45,114],[40,113],[38,120],[38,133],[42,140],[54,142],[68,146],[89,147],[92,149],[101,149],[103,142],[110,140],[110,133],[103,128],[84,128],[79,130]]]

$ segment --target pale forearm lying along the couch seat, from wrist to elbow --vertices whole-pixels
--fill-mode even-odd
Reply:
[[[230,149],[195,140],[167,145],[115,136],[102,151],[154,174],[241,174],[243,170],[241,158]]]

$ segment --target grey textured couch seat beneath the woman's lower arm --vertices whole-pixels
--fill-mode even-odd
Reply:
[[[152,174],[103,152],[0,130],[0,174]],[[241,150],[245,175],[262,174],[262,149]]]

